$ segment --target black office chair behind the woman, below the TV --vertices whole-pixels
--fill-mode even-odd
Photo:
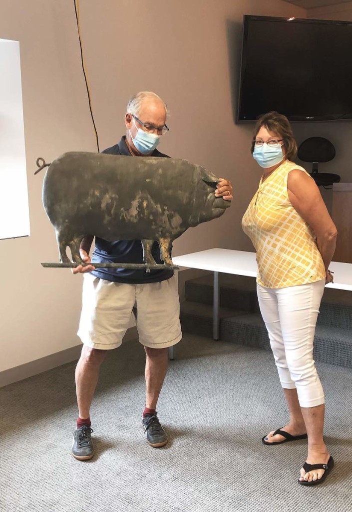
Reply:
[[[338,174],[319,173],[320,162],[329,162],[336,155],[334,145],[323,137],[310,137],[305,139],[298,148],[298,158],[303,162],[311,162],[312,172],[309,173],[316,184],[324,188],[331,188],[333,183],[338,183],[341,178]]]

